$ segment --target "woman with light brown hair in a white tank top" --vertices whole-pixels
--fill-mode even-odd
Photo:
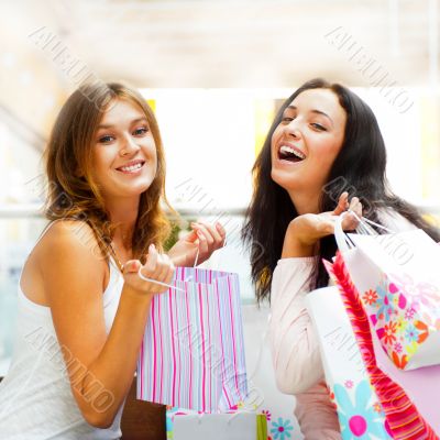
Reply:
[[[174,263],[193,264],[197,249],[199,262],[208,258],[224,230],[198,222],[164,253],[161,135],[145,100],[123,85],[69,97],[45,164],[51,222],[19,285],[0,436],[117,439],[153,295],[166,289]]]

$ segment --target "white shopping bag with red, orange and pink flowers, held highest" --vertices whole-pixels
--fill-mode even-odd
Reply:
[[[440,246],[420,229],[349,237],[364,267],[353,282],[389,359],[402,370],[440,365]]]

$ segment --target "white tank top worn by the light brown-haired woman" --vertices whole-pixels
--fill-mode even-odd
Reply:
[[[123,285],[123,277],[111,258],[109,268],[110,280],[102,294],[107,334]],[[119,439],[123,405],[110,428],[99,429],[87,424],[70,389],[51,309],[31,301],[21,290],[20,279],[12,362],[0,383],[0,439]]]

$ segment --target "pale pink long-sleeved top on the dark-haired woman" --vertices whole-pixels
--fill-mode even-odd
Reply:
[[[394,231],[415,228],[394,212],[384,211],[381,218]],[[295,415],[306,440],[340,440],[338,416],[328,395],[318,340],[305,304],[315,258],[283,258],[274,271],[272,358],[279,391],[296,396]]]

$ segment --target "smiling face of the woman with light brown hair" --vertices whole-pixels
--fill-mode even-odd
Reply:
[[[94,140],[94,179],[105,198],[140,196],[156,176],[157,154],[143,110],[111,102]]]

